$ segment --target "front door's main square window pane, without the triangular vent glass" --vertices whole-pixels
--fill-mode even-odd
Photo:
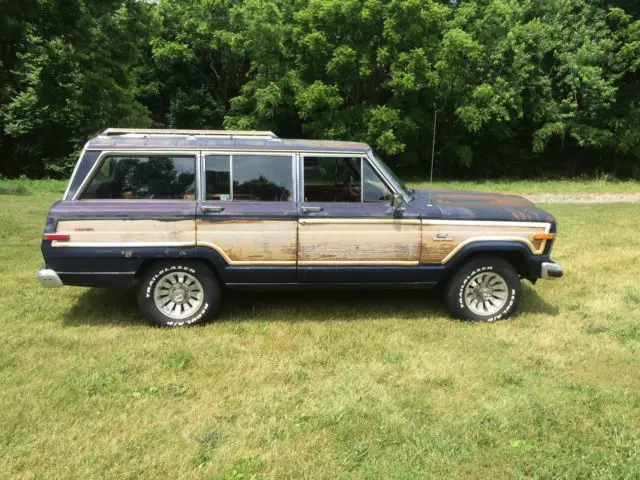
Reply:
[[[305,157],[305,202],[360,202],[360,158]]]

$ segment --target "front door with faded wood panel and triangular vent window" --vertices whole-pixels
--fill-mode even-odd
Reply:
[[[394,215],[393,192],[367,157],[305,154],[300,162],[298,280],[413,281],[419,214]]]

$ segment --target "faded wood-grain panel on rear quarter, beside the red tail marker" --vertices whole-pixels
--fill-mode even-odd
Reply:
[[[57,232],[68,233],[69,242],[52,245],[73,246],[74,243],[191,243],[196,241],[195,220],[62,220]]]

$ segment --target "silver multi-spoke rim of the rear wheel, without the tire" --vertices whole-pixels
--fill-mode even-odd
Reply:
[[[156,307],[167,317],[182,320],[196,313],[204,302],[204,290],[187,272],[171,272],[160,278],[153,290]]]

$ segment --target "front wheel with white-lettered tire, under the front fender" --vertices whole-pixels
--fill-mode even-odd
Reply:
[[[445,295],[454,316],[493,322],[515,312],[522,288],[520,277],[509,262],[483,257],[465,264],[447,285]]]

